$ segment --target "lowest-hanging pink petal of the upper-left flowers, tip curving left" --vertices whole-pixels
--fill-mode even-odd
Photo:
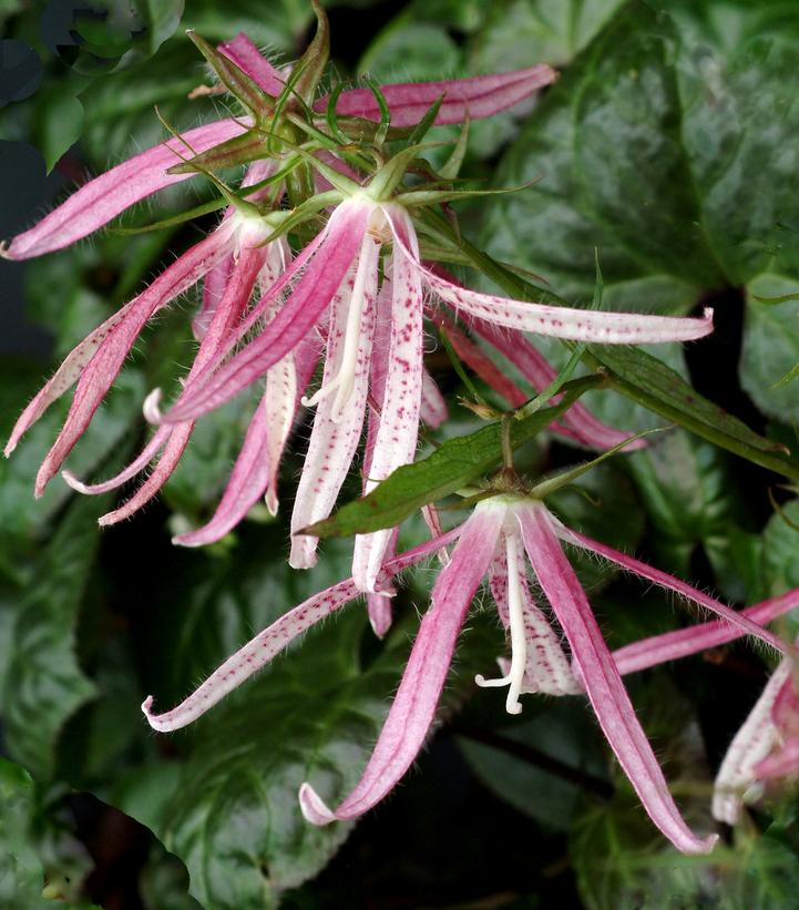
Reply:
[[[258,402],[249,421],[242,451],[233,466],[231,479],[219,505],[207,524],[172,539],[183,546],[204,546],[224,538],[264,495],[269,479],[267,460],[267,396]]]

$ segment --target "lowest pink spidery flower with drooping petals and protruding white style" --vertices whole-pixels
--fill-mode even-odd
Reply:
[[[309,784],[304,784],[299,798],[306,818],[318,825],[356,818],[382,799],[404,775],[428,735],[459,632],[481,580],[488,575],[500,617],[510,632],[512,656],[502,678],[486,681],[478,676],[478,684],[506,686],[505,706],[513,714],[521,710],[520,695],[524,692],[564,695],[584,688],[611,747],[655,825],[680,850],[709,850],[715,838],[696,837],[668,793],[616,663],[559,539],[690,597],[731,623],[740,634],[756,635],[785,650],[779,640],[689,585],[570,531],[543,503],[518,495],[484,500],[460,528],[389,560],[381,571],[381,584],[389,585],[398,571],[455,538],[458,543],[436,582],[402,682],[359,784],[335,810],[325,805]],[[525,552],[560,632],[533,600]],[[150,724],[158,730],[173,730],[196,719],[291,638],[357,596],[357,584],[348,580],[295,607],[229,657],[176,708],[154,715],[152,698],[147,698],[143,710]],[[561,646],[561,632],[568,643],[572,664]]]

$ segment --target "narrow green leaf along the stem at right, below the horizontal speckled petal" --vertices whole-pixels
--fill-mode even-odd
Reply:
[[[741,458],[799,478],[799,463],[783,454],[783,446],[703,398],[662,360],[638,348],[592,345],[588,351],[590,362],[604,367],[611,386],[627,398]]]

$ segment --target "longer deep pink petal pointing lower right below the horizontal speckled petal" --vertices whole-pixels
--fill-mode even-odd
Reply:
[[[440,269],[438,274],[441,274]],[[552,367],[546,358],[527,341],[519,331],[509,331],[506,328],[494,326],[475,316],[467,316],[465,323],[475,334],[484,338],[500,354],[506,357],[511,364],[522,374],[536,392],[543,391],[557,376],[557,370]],[[490,384],[491,385],[491,384]],[[496,388],[495,386],[493,388]],[[506,396],[505,396],[506,397]],[[552,402],[556,405],[562,396],[556,395]],[[510,400],[510,399],[509,399]],[[597,420],[593,413],[580,401],[563,415],[563,423],[571,429],[578,442],[594,449],[612,449],[624,442],[629,437],[624,430],[616,430]],[[563,428],[561,428],[563,433]],[[631,442],[627,451],[643,449],[646,441],[643,439]]]

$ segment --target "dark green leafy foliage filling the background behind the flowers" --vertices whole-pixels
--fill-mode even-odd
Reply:
[[[303,0],[270,3],[268,13],[253,0],[183,7],[140,2],[136,35],[101,30],[90,38],[105,55],[74,57],[42,43],[35,3],[0,2],[2,38],[27,42],[43,61],[41,88],[0,110],[0,139],[34,145],[42,176],[61,160],[69,183],[79,161],[98,172],[157,142],[154,104],[181,127],[215,115],[207,100],[186,98],[206,73],[183,29],[209,41],[243,29],[290,60],[310,25]],[[562,70],[532,110],[473,125],[467,173],[495,185],[537,183],[465,208],[464,232],[567,300],[591,299],[597,249],[607,306],[685,314],[713,303],[719,340],[653,352],[754,433],[717,409],[685,407],[674,419],[693,432],[605,463],[581,481],[592,501],[565,491],[556,509],[738,603],[798,585],[799,536],[772,512],[768,491],[799,473],[799,460],[777,461],[771,444],[797,448],[797,386],[775,384],[799,361],[799,303],[760,299],[799,286],[797,4],[354,0],[329,12],[346,78],[368,70],[383,81],[439,79],[539,61]],[[146,203],[146,218],[196,204],[204,192],[197,181],[184,184]],[[133,239],[106,233],[27,266],[28,313],[52,336],[53,359],[192,238],[191,228]],[[78,476],[107,476],[143,438],[139,402],[187,356],[192,304],[151,329],[146,357],[140,351],[126,367],[70,461]],[[555,360],[567,356],[546,347]],[[618,388],[628,376],[641,381],[641,358],[595,355],[621,377]],[[430,366],[457,418],[439,441],[478,429],[458,408],[463,389],[440,351]],[[32,358],[0,360],[3,430],[49,369]],[[586,400],[619,427],[663,423],[644,407],[653,396],[676,407],[674,374],[663,369],[649,367],[637,398],[603,390]],[[63,408],[0,464],[3,907],[793,906],[790,789],[771,795],[711,857],[678,856],[636,805],[580,699],[527,697],[511,718],[500,695],[471,685],[504,646],[480,604],[419,770],[355,831],[305,825],[301,780],[335,795],[359,776],[424,609],[428,570],[409,580],[385,643],[354,605],[195,728],[151,735],[139,709],[144,695],[180,698],[254,630],[348,573],[346,541],[326,542],[313,573],[288,570],[285,514],[256,514],[201,552],[170,545],[172,529],[213,508],[246,403],[203,421],[161,504],[102,534],[95,519],[107,499],[75,498],[60,482],[32,498]],[[300,431],[283,479],[289,501],[303,439]],[[539,443],[522,458],[543,472],[577,453]],[[792,490],[776,494],[799,519]],[[411,543],[423,532],[410,521],[403,533]],[[612,645],[686,622],[659,592],[643,596],[593,563],[580,569]],[[796,621],[783,632],[796,634]],[[714,770],[768,672],[744,645],[715,657],[631,679],[680,805],[705,827]],[[102,825],[116,826],[120,857],[101,849]]]

